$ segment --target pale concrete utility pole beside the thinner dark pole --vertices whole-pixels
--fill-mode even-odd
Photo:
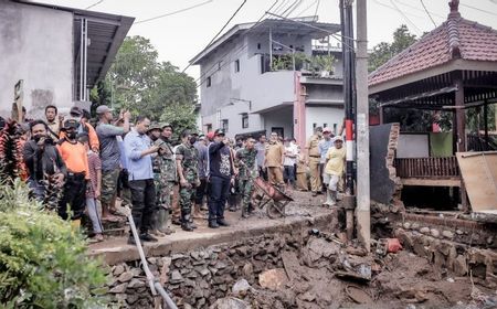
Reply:
[[[366,0],[358,0],[357,13],[357,232],[359,241],[370,249],[369,180],[369,103],[368,103],[368,26]]]

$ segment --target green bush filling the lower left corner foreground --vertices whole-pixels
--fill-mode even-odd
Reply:
[[[40,211],[25,184],[0,185],[2,308],[105,308],[93,292],[106,281],[101,262],[70,222]],[[93,291],[93,292],[92,292]]]

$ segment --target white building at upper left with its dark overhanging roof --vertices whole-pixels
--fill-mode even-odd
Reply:
[[[28,117],[46,105],[68,110],[104,78],[134,19],[0,0],[0,115],[10,117],[22,81]]]

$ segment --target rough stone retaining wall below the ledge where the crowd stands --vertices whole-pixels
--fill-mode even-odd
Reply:
[[[282,268],[282,252],[302,247],[307,234],[305,230],[260,236],[190,253],[149,257],[148,262],[178,306],[205,308],[225,297],[239,278],[253,285],[263,270]],[[109,294],[119,307],[152,306],[139,262],[113,266],[109,277]]]

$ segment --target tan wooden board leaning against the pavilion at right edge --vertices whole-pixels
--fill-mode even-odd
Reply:
[[[497,210],[497,151],[456,156],[473,211]]]

